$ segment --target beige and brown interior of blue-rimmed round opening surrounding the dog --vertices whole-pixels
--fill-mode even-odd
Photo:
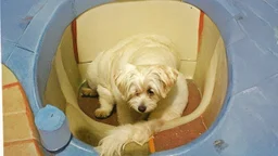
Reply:
[[[137,34],[169,38],[180,52],[179,70],[189,87],[184,116],[155,134],[155,152],[185,145],[207,130],[222,108],[228,81],[225,46],[216,25],[202,11],[179,1],[114,2],[88,10],[64,31],[45,90],[43,104],[63,110],[73,135],[92,146],[117,126],[116,113],[96,119],[97,98],[79,93],[88,63],[119,40]],[[150,154],[149,144],[130,143],[125,153]],[[151,148],[152,148],[151,147]]]

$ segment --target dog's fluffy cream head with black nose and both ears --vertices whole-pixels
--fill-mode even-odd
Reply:
[[[178,72],[164,65],[126,65],[115,76],[123,99],[139,113],[149,113],[166,98],[175,84]]]

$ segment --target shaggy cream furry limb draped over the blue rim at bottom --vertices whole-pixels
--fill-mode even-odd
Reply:
[[[136,142],[139,145],[147,143],[153,133],[160,130],[163,123],[164,120],[154,119],[135,125],[119,126],[100,141],[97,150],[101,156],[121,155],[122,150],[130,142]]]

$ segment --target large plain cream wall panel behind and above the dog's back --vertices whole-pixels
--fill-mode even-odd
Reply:
[[[177,1],[110,3],[88,10],[76,21],[79,62],[92,61],[119,40],[142,32],[166,36],[182,60],[195,60],[199,17],[200,10]]]

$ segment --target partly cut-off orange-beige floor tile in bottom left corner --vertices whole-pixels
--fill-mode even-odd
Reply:
[[[41,156],[35,141],[13,143],[4,146],[4,156]]]

